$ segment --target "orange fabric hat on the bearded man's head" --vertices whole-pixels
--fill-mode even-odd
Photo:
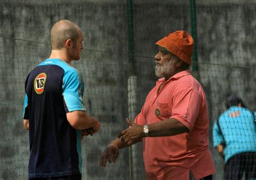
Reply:
[[[187,64],[192,64],[194,40],[188,32],[180,30],[170,33],[163,39],[158,40],[156,45],[169,50]]]

